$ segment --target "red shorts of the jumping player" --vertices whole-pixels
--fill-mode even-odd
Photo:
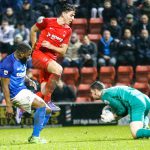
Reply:
[[[50,76],[50,73],[47,72],[47,66],[50,61],[52,61],[50,56],[47,54],[34,50],[32,54],[32,64],[33,67],[40,69],[40,83],[47,82]],[[54,60],[55,61],[55,60]]]

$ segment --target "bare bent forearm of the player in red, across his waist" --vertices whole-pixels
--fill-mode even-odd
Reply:
[[[48,41],[43,41],[42,46],[46,47],[48,49],[51,49],[61,55],[64,55],[68,48],[68,44],[62,44],[61,47],[56,47],[56,46],[52,45],[51,43],[49,43]]]

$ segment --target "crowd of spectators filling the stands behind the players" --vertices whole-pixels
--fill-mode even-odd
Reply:
[[[150,0],[0,0],[0,59],[17,43],[30,43],[31,26],[40,17],[58,16],[62,1],[77,6],[76,18],[103,19],[98,43],[72,33],[63,67],[150,64]]]

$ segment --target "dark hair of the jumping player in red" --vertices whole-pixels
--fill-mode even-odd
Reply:
[[[61,16],[63,12],[76,11],[76,6],[69,4],[67,2],[61,2],[61,8],[59,10],[58,16]]]

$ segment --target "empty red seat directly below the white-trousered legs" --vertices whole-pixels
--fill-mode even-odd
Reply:
[[[90,34],[100,33],[102,25],[103,25],[102,18],[91,18],[89,21],[89,33]]]

